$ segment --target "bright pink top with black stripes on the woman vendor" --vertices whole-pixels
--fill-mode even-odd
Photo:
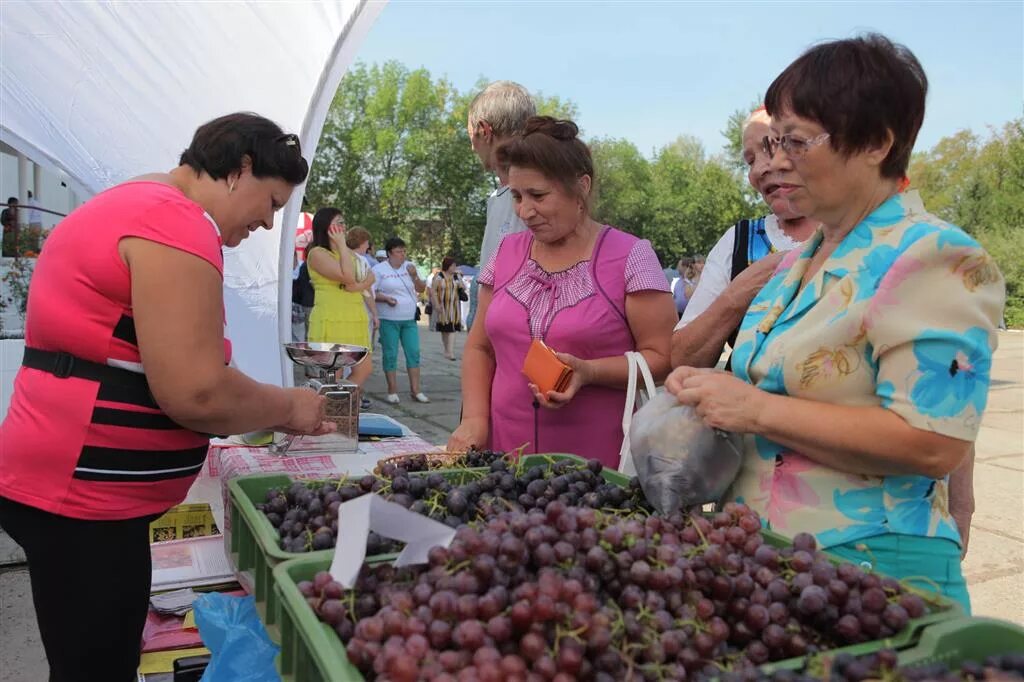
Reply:
[[[143,373],[131,272],[118,254],[129,237],[193,254],[223,275],[220,237],[202,207],[160,182],[117,185],[46,240],[29,292],[26,346]],[[148,390],[23,367],[0,425],[0,497],[73,518],[160,514],[184,499],[209,442],[174,423]]]

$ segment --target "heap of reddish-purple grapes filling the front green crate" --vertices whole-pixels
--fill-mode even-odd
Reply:
[[[526,494],[547,498],[570,472],[551,473]],[[461,526],[400,580],[382,570],[365,568],[349,593],[327,573],[300,589],[349,659],[388,680],[757,679],[762,664],[925,612],[899,585],[830,563],[810,536],[770,547],[735,504],[709,519],[549,498]]]

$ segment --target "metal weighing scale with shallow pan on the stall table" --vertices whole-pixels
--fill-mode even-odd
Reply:
[[[296,365],[316,371],[306,386],[327,396],[327,421],[338,430],[322,436],[286,435],[270,444],[274,455],[334,455],[355,453],[359,449],[359,387],[349,381],[338,381],[335,373],[355,367],[369,349],[343,343],[286,343],[285,352]]]

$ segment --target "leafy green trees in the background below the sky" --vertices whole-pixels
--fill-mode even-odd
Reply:
[[[306,186],[308,210],[340,208],[382,245],[402,237],[426,264],[444,255],[475,263],[495,178],[466,131],[472,92],[389,61],[355,65],[335,96]],[[574,102],[537,94],[538,112],[577,120]],[[736,220],[767,211],[746,182],[736,110],[721,154],[680,135],[653,158],[625,139],[590,140],[595,218],[647,239],[662,262],[707,254]],[[963,226],[1007,279],[1007,319],[1024,326],[1024,119],[988,139],[963,131],[914,156],[910,177],[932,212]]]

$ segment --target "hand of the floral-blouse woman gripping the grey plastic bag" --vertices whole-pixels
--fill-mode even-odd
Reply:
[[[665,388],[688,404],[705,424],[734,433],[757,433],[768,393],[728,372],[681,367],[669,375]]]

